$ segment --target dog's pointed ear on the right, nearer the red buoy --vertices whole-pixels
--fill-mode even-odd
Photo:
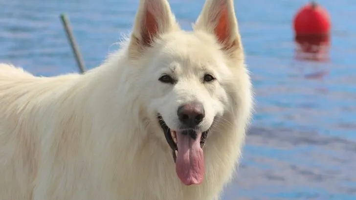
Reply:
[[[223,50],[243,48],[233,0],[206,0],[194,30],[215,35]]]

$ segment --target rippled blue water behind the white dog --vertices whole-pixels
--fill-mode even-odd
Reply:
[[[324,62],[296,60],[291,21],[307,0],[235,3],[257,107],[224,200],[356,200],[356,3],[319,0],[332,17]],[[170,0],[184,29],[203,0]],[[129,33],[137,0],[0,0],[0,61],[36,75],[78,71],[59,14],[86,66]]]

